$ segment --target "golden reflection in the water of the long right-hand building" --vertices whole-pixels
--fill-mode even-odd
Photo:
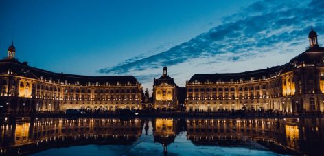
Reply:
[[[244,144],[248,140],[315,153],[324,143],[324,119],[250,120],[188,119],[187,139],[194,144]],[[270,146],[271,147],[271,146]],[[316,148],[321,150],[321,148]],[[313,151],[312,151],[313,150]],[[319,151],[317,151],[319,152]]]

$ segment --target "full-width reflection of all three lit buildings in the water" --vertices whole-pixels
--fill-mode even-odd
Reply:
[[[251,141],[266,148],[277,150],[294,149],[308,155],[323,153],[323,118],[286,119],[172,119],[152,120],[117,118],[25,118],[10,120],[5,118],[0,129],[0,155],[27,155],[49,148],[70,147],[86,144],[141,144],[151,140],[143,136],[153,135],[153,142],[167,146],[176,137],[187,137],[189,142],[176,144],[216,145],[253,147]],[[144,126],[145,125],[145,126]],[[152,128],[152,131],[148,129]],[[147,126],[147,127],[146,127]],[[149,132],[148,132],[149,131]],[[183,132],[187,133],[183,133]],[[142,137],[142,138],[140,138]],[[185,139],[185,138],[184,138]],[[188,144],[189,143],[189,144]],[[253,143],[255,144],[255,143]],[[233,145],[233,146],[232,146]],[[153,146],[154,148],[154,146]],[[251,149],[251,148],[249,148]],[[174,148],[172,151],[175,150]],[[137,152],[137,151],[136,151]],[[301,155],[301,153],[290,155]],[[110,153],[110,155],[112,155]],[[125,155],[124,150],[116,150],[113,155]]]

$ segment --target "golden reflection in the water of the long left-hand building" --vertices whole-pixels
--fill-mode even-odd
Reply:
[[[21,149],[20,153],[44,150],[71,144],[132,144],[141,135],[139,119],[47,119],[24,121],[1,126],[1,146],[7,152]],[[29,148],[25,148],[28,146]],[[8,151],[12,149],[12,151]],[[25,151],[23,151],[25,149]]]

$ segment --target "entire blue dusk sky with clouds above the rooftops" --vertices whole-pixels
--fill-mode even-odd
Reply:
[[[163,65],[185,86],[193,74],[287,63],[324,43],[324,1],[1,0],[0,52],[54,72],[133,75],[152,89]]]

